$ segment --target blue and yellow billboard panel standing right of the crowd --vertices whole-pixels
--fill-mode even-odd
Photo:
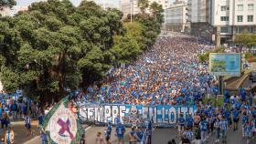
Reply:
[[[240,77],[240,53],[210,53],[209,73],[214,76]]]

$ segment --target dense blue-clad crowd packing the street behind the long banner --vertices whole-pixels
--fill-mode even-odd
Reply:
[[[80,96],[91,103],[194,104],[212,79],[197,54],[213,47],[191,36],[159,37],[132,65],[112,68],[101,87],[88,87]]]

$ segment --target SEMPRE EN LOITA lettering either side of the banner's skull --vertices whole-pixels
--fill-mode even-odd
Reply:
[[[123,119],[129,115],[132,105],[111,105],[111,104],[88,104],[80,103],[80,118],[84,121],[97,121],[102,123],[112,122],[120,117]],[[197,110],[195,106],[143,106],[136,105],[137,114],[144,119],[153,118],[156,125],[173,125],[176,124],[180,114],[187,117],[189,114],[194,117],[194,112]]]

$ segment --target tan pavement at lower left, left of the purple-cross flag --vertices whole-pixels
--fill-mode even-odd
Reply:
[[[26,141],[34,138],[39,137],[39,131],[37,129],[37,124],[38,121],[32,121],[31,123],[31,129],[35,133],[34,136],[28,136],[26,137],[27,134],[27,129],[25,128],[25,123],[24,121],[14,121],[11,122],[10,128],[14,131],[15,133],[15,144],[21,144],[25,143]],[[6,129],[1,129],[0,130],[0,139],[5,138],[5,131]],[[37,144],[38,142],[33,142],[33,144]],[[32,143],[31,143],[32,144]]]

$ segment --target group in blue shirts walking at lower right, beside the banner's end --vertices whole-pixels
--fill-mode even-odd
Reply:
[[[180,115],[178,118],[178,131],[182,143],[191,143],[195,140],[197,144],[207,143],[206,136],[213,132],[215,142],[227,143],[228,129],[238,130],[241,127],[241,138],[247,139],[256,136],[256,107],[251,103],[249,97],[243,98],[246,93],[240,96],[229,96],[226,94],[226,100],[221,107],[214,107],[212,103],[197,106],[197,112],[192,118]],[[228,100],[227,100],[228,99]]]

